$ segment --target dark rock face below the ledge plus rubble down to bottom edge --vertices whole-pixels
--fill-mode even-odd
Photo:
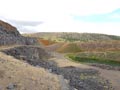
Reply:
[[[54,61],[48,60],[51,55],[40,47],[20,46],[2,52],[35,67],[45,68],[50,73],[62,75],[68,82],[68,90],[112,90],[110,83],[99,77],[98,71],[74,66],[59,67]]]

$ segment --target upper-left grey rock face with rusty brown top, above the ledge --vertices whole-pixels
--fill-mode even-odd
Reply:
[[[33,44],[37,44],[37,40],[35,38],[21,36],[16,27],[0,20],[0,46]]]

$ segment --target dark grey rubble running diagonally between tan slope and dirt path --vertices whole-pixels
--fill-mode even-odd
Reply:
[[[17,48],[13,50],[17,52]],[[13,52],[12,49],[9,50],[9,53],[7,54],[11,55],[11,52]],[[24,52],[26,52],[25,49]],[[27,52],[29,52],[29,49],[27,49]],[[66,83],[69,84],[69,86],[62,85],[63,90],[67,87],[69,88],[68,90],[113,90],[109,81],[99,77],[99,72],[97,70],[81,69],[73,66],[58,67],[53,61],[38,59],[35,58],[35,56],[34,59],[31,59],[29,55],[26,55],[25,58],[22,59],[18,55],[12,55],[15,58],[24,60],[33,66],[43,67],[51,73],[61,75],[64,79],[66,79]]]

